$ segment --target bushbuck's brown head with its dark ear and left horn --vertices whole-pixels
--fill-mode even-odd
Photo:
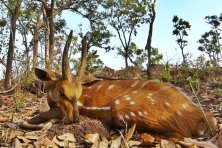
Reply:
[[[68,49],[72,40],[72,31],[66,42],[62,57],[62,75],[48,70],[35,68],[35,75],[45,81],[45,90],[50,107],[57,106],[63,113],[62,121],[65,123],[77,122],[79,112],[77,100],[82,93],[81,83],[76,78],[72,78]]]

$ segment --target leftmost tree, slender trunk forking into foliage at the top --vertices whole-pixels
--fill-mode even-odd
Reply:
[[[15,46],[15,36],[16,36],[16,21],[19,17],[19,10],[21,7],[22,0],[13,1],[3,1],[2,3],[7,7],[8,13],[10,14],[10,37],[9,37],[9,49],[7,56],[7,66],[6,66],[6,76],[5,76],[5,88],[11,87],[12,79],[12,61]]]

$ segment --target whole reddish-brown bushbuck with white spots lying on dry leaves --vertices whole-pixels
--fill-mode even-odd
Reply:
[[[68,48],[63,52],[62,75],[41,69],[35,69],[35,74],[45,81],[51,110],[30,119],[30,124],[52,118],[73,123],[80,113],[117,127],[136,123],[141,132],[175,138],[209,136],[216,129],[211,114],[204,114],[188,96],[167,83],[100,80],[82,89],[78,78],[72,78]]]

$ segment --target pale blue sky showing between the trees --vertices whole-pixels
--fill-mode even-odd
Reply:
[[[152,38],[152,47],[158,48],[163,54],[164,60],[162,63],[170,60],[172,63],[180,63],[182,61],[181,51],[176,44],[176,37],[172,35],[174,15],[179,16],[191,24],[191,29],[188,31],[188,46],[185,47],[185,53],[191,53],[193,59],[196,59],[201,53],[197,50],[201,35],[210,30],[210,25],[205,23],[205,16],[220,15],[222,13],[222,0],[157,0],[156,3],[156,20],[154,23],[154,31]],[[84,19],[74,17],[71,13],[65,13],[64,17],[67,20],[69,28],[78,30],[77,24],[83,23],[87,28],[87,22]],[[71,19],[75,18],[75,20]],[[79,22],[79,23],[77,23]],[[89,28],[89,27],[88,27]],[[139,48],[144,48],[146,45],[149,25],[142,25],[138,29],[138,34],[133,38],[133,42]],[[116,37],[111,40],[114,45],[120,45],[119,39]],[[117,56],[115,51],[105,53],[104,50],[99,50],[100,59],[105,66],[113,69],[121,69],[125,67],[124,59]]]

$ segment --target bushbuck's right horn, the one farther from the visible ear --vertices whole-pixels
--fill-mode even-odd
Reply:
[[[88,47],[87,47],[87,38],[84,36],[82,40],[82,57],[81,57],[81,64],[79,70],[77,72],[77,77],[79,80],[82,80],[82,77],[85,73],[86,63],[87,63],[87,54],[88,54]]]

